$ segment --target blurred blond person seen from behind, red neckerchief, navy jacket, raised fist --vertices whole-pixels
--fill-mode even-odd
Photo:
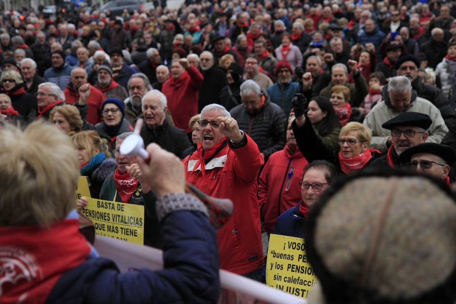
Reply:
[[[6,303],[215,303],[217,238],[204,204],[185,194],[179,158],[150,144],[144,184],[159,200],[164,269],[120,274],[78,232],[78,159],[66,134],[42,122],[0,132],[0,296]],[[27,148],[24,148],[27,147]],[[62,178],[64,177],[64,178]],[[58,185],[58,186],[56,186]]]

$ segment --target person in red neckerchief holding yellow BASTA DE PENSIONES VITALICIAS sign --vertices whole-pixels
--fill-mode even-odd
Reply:
[[[142,182],[143,176],[138,164],[132,164],[131,160],[121,154],[119,150],[124,139],[130,134],[133,132],[122,133],[116,139],[114,157],[117,168],[112,170],[104,180],[99,199],[143,205],[145,207],[144,245],[162,248],[160,224],[155,212],[157,197],[154,191],[151,191],[150,186]],[[87,204],[87,199],[82,197],[76,204],[76,208],[81,210]]]

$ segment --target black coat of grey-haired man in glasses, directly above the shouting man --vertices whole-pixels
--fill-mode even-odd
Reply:
[[[227,83],[225,74],[215,65],[206,71],[201,70],[201,68],[199,70],[204,77],[198,94],[198,111],[201,112],[201,109],[206,105],[218,102],[218,94]]]

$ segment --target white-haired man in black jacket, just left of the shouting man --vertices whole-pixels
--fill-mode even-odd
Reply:
[[[163,149],[181,157],[183,150],[192,144],[184,130],[172,126],[166,119],[167,100],[159,90],[147,92],[142,98],[144,125],[140,135],[144,145],[155,142]]]

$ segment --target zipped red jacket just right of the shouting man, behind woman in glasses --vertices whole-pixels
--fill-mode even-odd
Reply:
[[[308,164],[296,147],[290,155],[288,145],[272,154],[258,180],[258,198],[264,231],[272,233],[276,219],[283,212],[296,206],[301,199],[299,181]],[[291,178],[289,172],[292,171]]]

